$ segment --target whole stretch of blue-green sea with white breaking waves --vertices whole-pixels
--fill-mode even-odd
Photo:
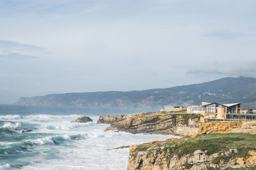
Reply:
[[[0,105],[0,169],[126,169],[129,148],[119,146],[178,138],[104,131],[100,115],[154,110],[117,110]],[[93,122],[70,123],[87,116]]]

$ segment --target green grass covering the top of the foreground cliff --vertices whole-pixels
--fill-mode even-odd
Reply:
[[[164,146],[164,149],[161,149]],[[202,150],[206,155],[212,155],[213,153],[226,152],[229,149],[237,148],[237,153],[231,156],[222,155],[212,160],[212,164],[219,164],[221,160],[227,162],[230,159],[236,157],[248,157],[250,150],[256,150],[256,135],[253,134],[202,134],[195,138],[188,138],[180,143],[161,143],[154,147],[139,146],[136,148],[136,154],[140,151],[148,150],[148,154],[156,152],[164,153],[166,159],[172,158],[172,155],[182,157],[183,155],[193,154],[196,150]]]

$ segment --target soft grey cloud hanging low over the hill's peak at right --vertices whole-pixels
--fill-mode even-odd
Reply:
[[[204,64],[207,66],[207,64]],[[226,66],[223,66],[226,65]],[[253,62],[227,62],[215,64],[215,66],[202,67],[200,69],[189,69],[187,74],[209,75],[218,74],[224,76],[249,76],[256,77],[256,61]]]

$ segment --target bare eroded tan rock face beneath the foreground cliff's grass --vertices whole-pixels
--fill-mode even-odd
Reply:
[[[163,148],[164,150],[164,148]],[[227,159],[232,157],[232,154],[236,154],[237,150],[230,150],[226,152]],[[194,153],[182,155],[172,155],[168,152],[159,152],[157,150],[150,150],[144,152],[138,152],[129,155],[127,170],[134,169],[193,169],[193,170],[203,170],[207,167],[222,168],[222,167],[245,167],[243,165],[237,164],[236,160],[227,160],[227,162],[218,162],[214,164],[212,160],[221,157],[221,153],[214,153],[212,155],[206,155],[202,150],[196,150]]]

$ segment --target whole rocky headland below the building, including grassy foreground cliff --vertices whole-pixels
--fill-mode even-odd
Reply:
[[[256,169],[256,120],[200,122],[200,114],[134,113],[100,116],[106,129],[182,138],[129,147],[127,169]]]

